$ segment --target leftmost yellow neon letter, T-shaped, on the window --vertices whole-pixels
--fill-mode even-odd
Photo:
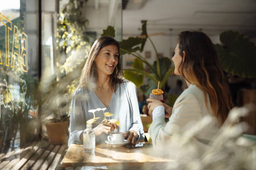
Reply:
[[[3,20],[6,20],[7,22],[10,23],[10,27],[8,26],[8,32],[7,32],[7,25],[4,23]],[[2,24],[5,25],[5,65],[6,66],[9,66],[9,63],[10,63],[10,59],[9,59],[9,30],[12,31],[12,23],[4,16],[2,15]],[[8,35],[7,35],[8,33]]]

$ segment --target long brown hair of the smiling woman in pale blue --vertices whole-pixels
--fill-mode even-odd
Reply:
[[[116,68],[114,68],[114,72],[110,75],[110,86],[113,87],[114,92],[116,92],[117,87],[124,82],[123,72],[121,69],[120,62],[120,46],[118,41],[113,39],[112,37],[103,36],[95,40],[91,50],[89,51],[88,59],[84,65],[82,70],[82,75],[80,77],[80,82],[78,88],[88,89],[88,83],[91,81],[97,81],[98,73],[95,64],[95,59],[99,54],[99,51],[109,45],[117,46],[118,48],[118,64]]]

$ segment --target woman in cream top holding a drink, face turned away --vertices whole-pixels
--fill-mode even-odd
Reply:
[[[200,131],[195,140],[209,143],[233,107],[228,86],[210,38],[202,32],[181,32],[172,58],[175,75],[181,75],[188,88],[178,96],[173,108],[148,99],[153,122],[149,134],[153,144],[172,134],[184,134],[204,116],[212,116],[212,125]],[[165,124],[164,112],[171,115]]]

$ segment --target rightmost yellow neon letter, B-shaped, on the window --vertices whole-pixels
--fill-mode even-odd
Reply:
[[[28,35],[21,34],[21,60],[20,60],[21,70],[23,72],[28,72]]]

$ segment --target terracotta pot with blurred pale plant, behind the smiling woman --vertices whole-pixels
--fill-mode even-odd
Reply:
[[[69,125],[69,108],[72,93],[84,65],[74,65],[72,71],[48,76],[45,73],[39,84],[39,106],[42,119],[42,137],[51,144],[67,142]],[[49,70],[49,69],[46,69]]]

